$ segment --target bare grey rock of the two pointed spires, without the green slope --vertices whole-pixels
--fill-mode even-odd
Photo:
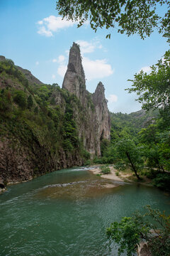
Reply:
[[[79,137],[91,154],[101,155],[101,140],[110,139],[111,121],[108,112],[104,86],[98,83],[93,95],[86,90],[84,69],[81,63],[80,49],[73,43],[69,52],[69,64],[64,76],[62,88],[76,95],[84,108],[85,122],[79,120]]]

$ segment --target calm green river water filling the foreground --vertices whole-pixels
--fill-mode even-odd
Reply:
[[[169,194],[114,183],[74,168],[8,186],[0,195],[0,255],[117,256],[106,238],[111,222],[147,204],[170,214]]]

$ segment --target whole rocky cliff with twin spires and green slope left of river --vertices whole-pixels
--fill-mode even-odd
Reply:
[[[103,84],[98,83],[94,94],[86,90],[76,43],[62,89],[42,84],[0,56],[0,182],[28,181],[81,166],[89,153],[91,158],[101,155],[101,141],[110,139],[110,128]]]

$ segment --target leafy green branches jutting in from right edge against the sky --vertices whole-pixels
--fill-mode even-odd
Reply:
[[[166,120],[170,120],[170,50],[156,65],[152,65],[152,72],[147,74],[141,71],[135,74],[129,93],[136,92],[137,100],[145,110],[159,109]]]

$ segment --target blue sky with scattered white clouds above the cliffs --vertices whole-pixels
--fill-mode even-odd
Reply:
[[[62,87],[69,48],[79,43],[86,75],[86,88],[94,92],[99,81],[106,88],[111,112],[141,109],[135,94],[128,94],[135,73],[157,63],[169,49],[157,32],[146,38],[125,36],[114,30],[91,30],[88,23],[62,21],[55,0],[0,0],[0,55],[11,58],[47,84]],[[111,39],[106,39],[111,32]]]

